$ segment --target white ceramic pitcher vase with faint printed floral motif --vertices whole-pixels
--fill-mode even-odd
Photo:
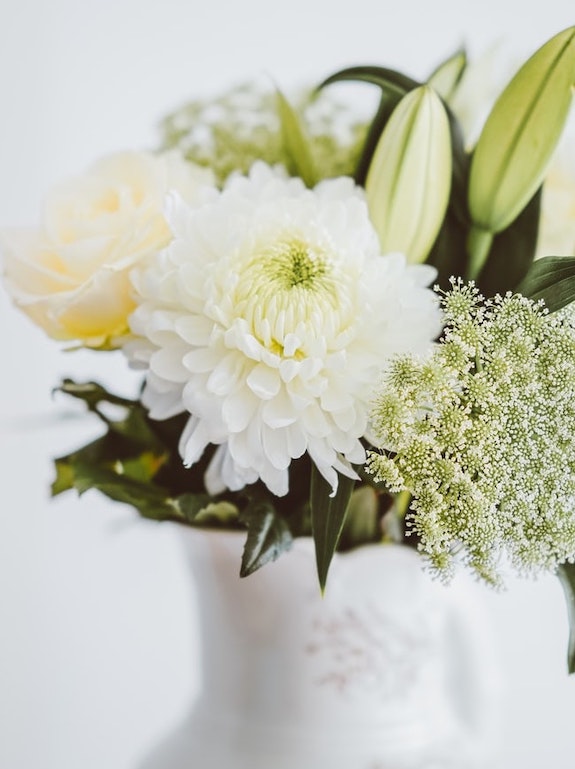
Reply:
[[[245,535],[183,537],[201,693],[141,769],[487,766],[496,672],[466,590],[370,546],[336,554],[322,598],[309,540],[239,579]]]

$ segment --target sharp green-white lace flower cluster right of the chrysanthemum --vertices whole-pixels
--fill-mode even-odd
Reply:
[[[402,357],[373,412],[375,479],[413,495],[421,549],[449,575],[454,552],[502,582],[575,556],[575,330],[508,294],[454,283],[426,360]]]

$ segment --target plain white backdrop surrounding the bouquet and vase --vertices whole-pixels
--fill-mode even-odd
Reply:
[[[569,0],[2,0],[0,225],[98,156],[154,146],[162,114],[269,73],[285,88],[378,63],[424,77],[461,43],[530,53]],[[121,359],[64,355],[0,292],[0,767],[133,769],[195,680],[174,531],[87,494],[49,502],[50,457],[93,433],[50,398],[67,374],[130,388]],[[67,417],[67,418],[66,418]],[[498,769],[572,769],[575,679],[554,580],[485,601],[507,675]]]

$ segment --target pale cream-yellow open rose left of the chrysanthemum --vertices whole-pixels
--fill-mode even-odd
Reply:
[[[168,191],[195,206],[212,190],[210,171],[175,153],[117,153],[48,197],[38,230],[0,236],[6,286],[51,337],[116,347],[135,308],[129,272],[170,241]]]

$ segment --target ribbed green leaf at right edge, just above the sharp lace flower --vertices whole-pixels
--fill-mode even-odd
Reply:
[[[543,299],[551,312],[575,301],[575,256],[537,259],[517,291],[533,301]]]

